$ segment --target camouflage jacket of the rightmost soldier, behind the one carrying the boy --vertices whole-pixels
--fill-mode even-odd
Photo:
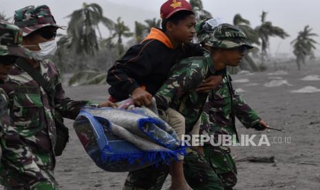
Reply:
[[[236,134],[233,114],[247,128],[261,120],[233,89],[231,81],[230,74],[226,74],[219,87],[209,92],[209,101],[206,101],[202,114],[200,134],[212,134],[217,131],[222,134]]]

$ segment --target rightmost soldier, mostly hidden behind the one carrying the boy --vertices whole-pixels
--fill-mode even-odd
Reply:
[[[220,29],[219,26],[215,26],[214,23],[216,23],[215,19],[198,23],[198,39],[202,45],[207,45],[211,48],[232,49],[242,48],[243,46],[250,48],[247,44],[233,43],[232,40],[225,39],[222,34],[224,32],[222,28]],[[242,31],[239,31],[239,36],[245,35]],[[204,112],[202,114],[200,134],[210,134],[215,136],[215,138],[219,135],[237,135],[235,116],[247,128],[266,129],[267,125],[264,120],[259,118],[246,101],[235,92],[231,81],[230,74],[226,73],[219,87],[209,92],[209,99],[204,105]],[[224,189],[233,189],[233,186],[237,183],[237,168],[230,154],[230,148],[222,145],[212,146],[206,144],[203,149],[206,160],[220,177]]]

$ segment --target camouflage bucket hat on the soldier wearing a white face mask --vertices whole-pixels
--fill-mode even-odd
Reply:
[[[43,28],[48,25],[56,26],[56,28],[64,29],[60,25],[56,25],[56,21],[51,14],[48,6],[28,6],[14,12],[14,25],[17,25],[23,31],[23,36]]]

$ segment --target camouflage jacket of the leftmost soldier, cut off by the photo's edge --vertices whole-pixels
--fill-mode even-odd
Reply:
[[[0,184],[6,187],[23,184],[23,187],[27,188],[35,182],[44,181],[45,173],[42,173],[36,165],[31,149],[25,145],[17,129],[11,125],[8,108],[8,96],[0,88],[0,144],[3,151],[0,165]]]

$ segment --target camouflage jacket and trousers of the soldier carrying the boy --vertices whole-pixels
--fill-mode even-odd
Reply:
[[[171,77],[155,94],[159,115],[164,118],[169,107],[186,118],[186,132],[198,122],[207,93],[196,92],[204,78],[215,73],[209,52],[204,56],[183,59],[173,66]],[[187,105],[187,106],[186,106]],[[123,189],[161,189],[169,174],[166,166],[131,171]],[[184,177],[193,189],[223,189],[222,184],[198,150],[190,149],[184,157]]]

